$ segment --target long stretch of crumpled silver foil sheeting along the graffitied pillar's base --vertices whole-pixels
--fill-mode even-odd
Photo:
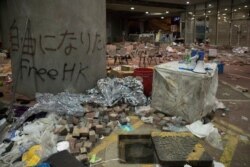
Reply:
[[[37,104],[29,108],[13,126],[20,127],[31,115],[39,112],[56,112],[61,115],[83,116],[81,103],[95,103],[101,106],[113,106],[124,102],[132,106],[145,105],[147,98],[143,93],[142,83],[134,77],[104,78],[97,82],[97,87],[89,89],[86,94],[62,92],[57,95],[37,93]]]

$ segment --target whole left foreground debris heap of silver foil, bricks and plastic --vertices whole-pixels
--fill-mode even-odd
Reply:
[[[0,166],[37,166],[58,151],[88,164],[87,153],[115,128],[132,130],[131,107],[146,105],[142,83],[101,79],[86,94],[36,94],[37,103],[13,124],[0,145]]]

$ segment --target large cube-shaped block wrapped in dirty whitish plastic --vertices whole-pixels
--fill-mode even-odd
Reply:
[[[192,123],[210,113],[218,87],[217,65],[208,74],[178,69],[178,62],[155,66],[151,106]]]

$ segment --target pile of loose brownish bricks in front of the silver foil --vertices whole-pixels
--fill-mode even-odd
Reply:
[[[87,162],[87,153],[100,141],[108,136],[118,124],[129,123],[127,117],[130,109],[126,104],[113,108],[85,106],[83,117],[63,116],[54,133],[58,142],[68,141],[69,151],[81,162]]]

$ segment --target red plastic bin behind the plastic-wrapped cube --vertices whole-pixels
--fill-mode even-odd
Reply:
[[[153,82],[153,69],[151,68],[136,68],[134,70],[135,77],[141,77],[143,79],[144,94],[151,96],[152,82]]]

